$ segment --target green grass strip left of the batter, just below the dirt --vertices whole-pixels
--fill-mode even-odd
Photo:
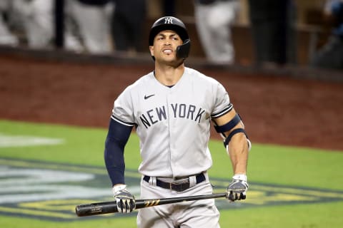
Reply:
[[[105,129],[14,123],[8,120],[1,120],[0,133],[6,135],[61,138],[65,140],[65,143],[61,145],[11,147],[6,148],[6,150],[1,150],[0,148],[1,157],[104,166]],[[131,138],[135,137],[133,136]],[[138,142],[138,138],[136,140]],[[132,159],[128,159],[130,164],[132,161],[139,160],[139,150],[134,144],[131,143],[126,147],[126,151],[138,152],[138,154],[131,153],[132,155],[135,154],[135,156]]]

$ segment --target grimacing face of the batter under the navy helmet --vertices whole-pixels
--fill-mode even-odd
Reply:
[[[154,46],[150,46],[151,56],[156,61],[175,61],[177,59],[177,46],[182,45],[180,36],[172,30],[159,32],[154,38]]]

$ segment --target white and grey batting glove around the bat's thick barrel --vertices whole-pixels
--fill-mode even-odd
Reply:
[[[118,212],[130,213],[136,207],[136,199],[134,195],[126,190],[126,185],[118,185],[113,187],[114,199],[116,199],[116,208]]]

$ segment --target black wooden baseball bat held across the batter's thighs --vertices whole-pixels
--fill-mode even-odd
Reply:
[[[154,207],[163,204],[172,204],[176,202],[187,202],[199,199],[214,199],[227,197],[227,193],[217,193],[211,195],[196,195],[189,197],[174,197],[174,198],[163,198],[163,199],[136,199],[136,208],[141,209],[144,207]],[[75,208],[76,215],[78,217],[91,216],[96,214],[109,214],[116,213],[116,201],[109,202],[94,202],[91,204],[80,204]]]

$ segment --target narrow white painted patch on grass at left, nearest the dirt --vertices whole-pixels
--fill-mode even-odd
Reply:
[[[62,143],[64,143],[64,140],[60,138],[0,134],[0,147],[27,147],[35,145],[58,145]]]

